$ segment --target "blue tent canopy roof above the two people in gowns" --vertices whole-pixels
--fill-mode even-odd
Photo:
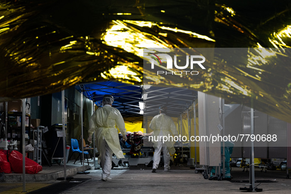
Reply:
[[[153,117],[159,107],[167,106],[168,115],[180,117],[197,97],[197,92],[185,88],[148,87],[130,85],[116,81],[85,83],[76,86],[79,92],[101,105],[104,95],[114,97],[113,107],[117,108],[125,121],[143,121],[143,116]],[[144,104],[144,107],[143,107]]]

